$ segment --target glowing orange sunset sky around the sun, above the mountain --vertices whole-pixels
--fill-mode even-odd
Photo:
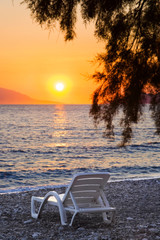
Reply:
[[[50,34],[43,30],[20,2],[0,1],[0,87],[40,100],[91,103],[95,84],[87,75],[95,66],[90,61],[104,49],[93,25],[85,28],[79,19],[77,38],[65,42],[58,28]],[[55,90],[57,81],[64,83],[63,92]]]

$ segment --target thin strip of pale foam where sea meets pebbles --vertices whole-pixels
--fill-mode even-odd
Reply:
[[[152,180],[152,179],[160,179],[160,176],[157,177],[133,177],[133,178],[125,178],[125,179],[112,179],[110,176],[109,178],[109,183],[114,183],[114,182],[126,182],[126,181],[143,181],[143,180]],[[68,181],[70,182],[70,181]],[[23,193],[23,192],[30,192],[30,191],[39,191],[39,190],[47,190],[47,189],[57,189],[57,188],[66,188],[68,184],[56,184],[56,185],[44,185],[44,186],[37,186],[37,187],[22,187],[22,188],[11,188],[11,189],[6,189],[2,190],[0,189],[0,196],[3,194],[12,194],[12,193]]]

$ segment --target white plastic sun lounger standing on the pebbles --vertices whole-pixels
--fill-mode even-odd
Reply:
[[[67,225],[66,211],[73,213],[70,226],[77,213],[102,213],[104,222],[110,224],[114,218],[115,208],[109,202],[103,191],[110,175],[108,173],[79,173],[74,175],[64,194],[55,191],[48,192],[45,197],[32,196],[31,215],[38,218],[44,204],[48,203],[59,208],[62,225]],[[39,202],[38,212],[35,203]]]

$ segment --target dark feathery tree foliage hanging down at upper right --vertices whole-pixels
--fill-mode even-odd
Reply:
[[[58,22],[65,40],[75,37],[77,7],[84,24],[95,23],[95,35],[106,43],[97,56],[101,71],[90,114],[104,121],[106,135],[114,135],[113,120],[122,111],[122,145],[132,138],[132,126],[150,111],[160,135],[160,1],[159,0],[24,0],[32,17],[54,28]]]

